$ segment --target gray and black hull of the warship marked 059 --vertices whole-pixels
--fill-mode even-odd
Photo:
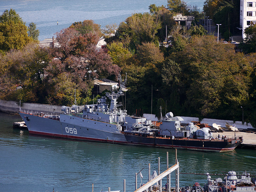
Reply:
[[[143,137],[118,130],[116,123],[81,118],[78,115],[61,114],[59,120],[27,113],[20,113],[20,116],[25,121],[29,133],[60,138],[217,152],[233,151],[236,146],[242,143],[242,139],[222,141]]]

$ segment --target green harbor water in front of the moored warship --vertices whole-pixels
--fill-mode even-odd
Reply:
[[[126,191],[135,189],[135,173],[142,170],[142,182],[148,180],[148,163],[151,173],[166,170],[166,152],[169,167],[175,164],[175,149],[159,149],[58,139],[31,135],[27,130],[13,129],[12,123],[21,117],[0,112],[0,192],[94,192]],[[199,152],[178,150],[180,186],[207,182],[206,175],[182,173],[256,175],[256,151],[235,149],[233,152]],[[216,176],[223,178],[224,176]],[[252,176],[253,177],[253,176]],[[255,176],[256,177],[256,176]],[[212,176],[215,178],[215,176]],[[175,186],[171,174],[171,185]],[[138,177],[138,186],[141,182]],[[163,181],[165,184],[166,180]]]

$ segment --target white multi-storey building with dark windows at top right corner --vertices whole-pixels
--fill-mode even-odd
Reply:
[[[245,39],[244,30],[256,22],[256,0],[240,0],[240,27],[242,38]]]

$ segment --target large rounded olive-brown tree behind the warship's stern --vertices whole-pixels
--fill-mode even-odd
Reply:
[[[252,71],[245,55],[213,36],[192,36],[170,59],[180,64],[179,95],[186,113],[202,117],[238,118],[237,108],[249,99]]]

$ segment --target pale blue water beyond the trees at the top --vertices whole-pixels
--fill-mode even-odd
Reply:
[[[203,3],[204,0],[187,1],[201,10]],[[39,40],[43,40],[78,21],[94,20],[101,27],[119,25],[133,13],[149,12],[150,4],[165,6],[167,0],[0,0],[0,13],[14,9],[26,25],[36,23]]]

